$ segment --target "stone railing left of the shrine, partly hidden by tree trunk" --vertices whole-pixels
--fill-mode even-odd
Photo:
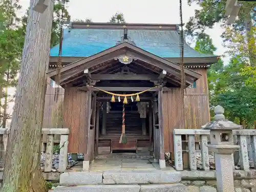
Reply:
[[[0,129],[0,149],[1,149],[1,159],[5,159],[5,153],[7,148],[9,129]],[[59,135],[60,140],[54,141],[54,136]],[[53,154],[54,145],[59,145],[59,154],[57,154],[58,168],[54,169],[55,172],[65,172],[68,166],[68,136],[69,129],[67,128],[50,128],[42,129],[42,137],[46,136],[46,140],[42,140],[41,143],[41,170],[45,173],[52,172],[52,164],[55,160]],[[3,165],[2,165],[3,166]]]

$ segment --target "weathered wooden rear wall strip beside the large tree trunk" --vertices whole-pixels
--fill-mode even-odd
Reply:
[[[55,90],[56,88],[50,86],[50,78],[48,78],[45,98],[44,120],[42,121],[43,128],[54,128],[58,126],[58,123],[56,122],[56,118],[58,118],[56,117],[56,113],[58,108],[63,108],[64,89],[59,89],[59,99],[57,102],[54,100]]]

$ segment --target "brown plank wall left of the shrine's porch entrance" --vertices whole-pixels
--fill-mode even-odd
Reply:
[[[70,129],[69,153],[87,154],[90,130],[91,92],[66,88],[64,95],[64,124]],[[89,110],[88,110],[89,109]]]

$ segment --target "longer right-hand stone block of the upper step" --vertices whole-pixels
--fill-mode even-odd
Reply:
[[[163,184],[180,182],[181,174],[167,170],[109,170],[103,172],[103,179],[113,180],[115,184]]]

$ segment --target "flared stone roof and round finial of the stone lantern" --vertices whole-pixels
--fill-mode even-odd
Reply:
[[[202,126],[205,130],[239,130],[242,129],[242,125],[238,125],[232,121],[225,120],[224,108],[217,105],[214,109],[215,117],[213,121],[208,122]]]

